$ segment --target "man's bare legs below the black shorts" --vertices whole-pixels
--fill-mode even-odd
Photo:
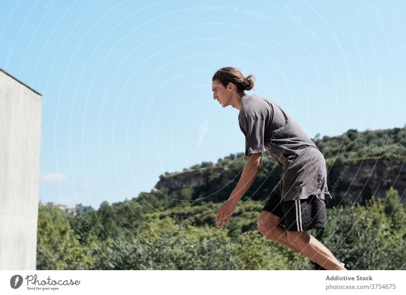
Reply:
[[[286,232],[278,223],[281,218],[267,211],[262,211],[258,218],[259,232],[270,240],[309,257],[309,259],[326,270],[346,270],[327,247],[315,237],[304,232]]]

